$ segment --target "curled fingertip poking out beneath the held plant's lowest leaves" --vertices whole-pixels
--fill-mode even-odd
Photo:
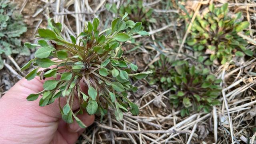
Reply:
[[[77,117],[86,125],[90,126],[94,122],[94,115],[89,115],[88,113],[77,115]],[[81,132],[84,128],[81,128],[76,122],[68,124],[69,132]]]

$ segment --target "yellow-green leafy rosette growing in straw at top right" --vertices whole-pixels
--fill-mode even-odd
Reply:
[[[247,41],[238,36],[238,32],[243,32],[249,26],[249,22],[241,22],[242,13],[231,15],[227,3],[220,8],[211,4],[209,10],[203,17],[196,17],[190,36],[186,40],[186,43],[198,52],[199,62],[210,65],[214,60],[218,60],[224,64],[230,61],[233,55],[252,56],[253,52],[246,49]]]

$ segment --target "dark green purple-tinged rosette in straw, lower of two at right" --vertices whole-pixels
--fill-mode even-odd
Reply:
[[[207,68],[198,70],[187,61],[172,61],[161,55],[150,69],[156,71],[148,77],[149,83],[158,83],[163,90],[171,90],[170,103],[182,109],[181,116],[192,110],[209,112],[211,106],[220,104],[216,98],[220,95],[218,84],[221,80],[209,74]]]

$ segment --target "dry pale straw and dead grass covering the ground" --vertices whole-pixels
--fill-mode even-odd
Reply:
[[[19,0],[20,12],[30,8],[30,0]],[[63,36],[76,35],[83,30],[84,21],[94,17],[102,20],[102,29],[110,25],[116,17],[105,8],[106,2],[114,1],[120,6],[124,0],[32,0],[35,11],[24,14],[30,24],[30,35],[25,37],[36,41],[34,35],[39,27],[46,27],[46,20],[53,17],[63,25]],[[175,2],[175,0],[170,0]],[[38,5],[36,5],[36,2]],[[193,61],[188,47],[184,45],[189,28],[184,30],[184,21],[178,13],[184,12],[176,4],[166,8],[163,2],[167,0],[150,0],[144,6],[154,8],[152,17],[157,23],[151,24],[148,29],[151,36],[140,38],[134,36],[138,43],[125,45],[128,57],[136,62],[140,71],[158,60],[160,53],[185,57]],[[188,12],[202,14],[208,12],[210,3],[221,6],[229,2],[231,11],[242,11],[244,19],[250,22],[250,36],[239,34],[248,40],[250,49],[256,48],[256,2],[253,0],[194,0],[180,2]],[[193,21],[193,18],[192,18]],[[135,50],[136,49],[136,50]],[[24,74],[19,71],[29,58],[16,56],[6,60],[5,69],[0,74],[0,93],[3,95]],[[18,64],[17,64],[18,63]],[[256,137],[256,58],[233,59],[233,62],[222,66],[211,66],[212,74],[223,80],[222,106],[216,106],[211,113],[191,113],[185,118],[180,117],[180,111],[170,107],[168,91],[162,92],[158,86],[148,86],[145,80],[134,85],[139,90],[130,94],[129,98],[140,106],[140,115],[124,114],[124,120],[116,121],[112,114],[108,114],[102,123],[96,117],[96,122],[87,128],[77,143],[79,144],[184,144],[184,143],[216,143],[216,144],[254,144]],[[6,77],[7,74],[7,77]],[[11,78],[14,78],[11,80]],[[248,142],[250,140],[250,142]]]

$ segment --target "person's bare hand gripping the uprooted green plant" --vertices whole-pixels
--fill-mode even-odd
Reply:
[[[82,88],[84,89],[84,88]],[[0,99],[0,143],[1,144],[74,144],[78,136],[84,131],[74,121],[67,124],[61,118],[58,100],[40,107],[39,99],[29,102],[29,94],[43,90],[43,82],[39,77],[27,81],[25,78],[16,83]],[[66,103],[60,99],[63,107]],[[74,102],[72,110],[79,108]],[[90,126],[94,122],[94,115],[87,113],[78,118]]]

